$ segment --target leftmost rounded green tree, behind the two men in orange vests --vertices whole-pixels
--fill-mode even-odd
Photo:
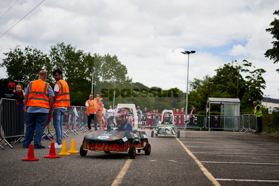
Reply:
[[[0,64],[1,67],[5,67],[8,78],[18,81],[23,81],[25,87],[33,80],[38,79],[39,71],[50,71],[50,60],[46,54],[34,47],[25,47],[22,51],[19,45],[14,50],[10,49],[9,52],[4,53],[7,58],[3,59]],[[48,75],[49,81],[51,76]]]

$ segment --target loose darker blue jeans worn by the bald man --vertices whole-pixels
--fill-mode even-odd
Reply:
[[[28,113],[26,120],[26,131],[23,141],[23,146],[29,148],[29,145],[33,139],[34,133],[34,148],[39,148],[42,146],[41,139],[45,130],[45,124],[49,117],[49,113]],[[36,129],[36,131],[35,131]]]

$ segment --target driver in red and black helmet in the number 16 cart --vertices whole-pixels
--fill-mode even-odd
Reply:
[[[119,109],[115,114],[116,127],[119,131],[132,131],[132,125],[128,123],[129,113],[126,109]]]

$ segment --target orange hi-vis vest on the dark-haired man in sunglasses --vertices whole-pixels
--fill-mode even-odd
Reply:
[[[57,94],[54,108],[56,107],[70,107],[70,91],[69,91],[69,86],[67,82],[63,79],[60,79],[59,81],[56,82],[60,90]],[[54,84],[54,86],[56,85]]]

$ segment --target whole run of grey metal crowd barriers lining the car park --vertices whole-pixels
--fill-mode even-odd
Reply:
[[[9,143],[11,140],[15,143],[20,142],[20,139],[25,135],[26,124],[26,112],[24,104],[19,104],[17,100],[2,98],[0,100],[0,142],[5,141],[12,148]],[[111,120],[114,117],[114,113],[104,113],[105,127],[107,124],[112,124]],[[143,113],[139,115],[138,120],[132,114],[129,116],[128,122],[134,126],[137,122],[139,128],[154,128],[161,121],[162,114],[158,113]],[[185,119],[187,118],[187,119]],[[164,120],[164,118],[163,118]],[[77,131],[85,132],[87,126],[87,113],[86,107],[70,106],[66,109],[63,115],[63,137],[68,137],[70,132],[74,135],[78,134]],[[172,118],[171,118],[172,121]],[[95,123],[97,123],[95,121]],[[222,116],[222,115],[207,115],[205,118],[203,115],[174,115],[174,124],[177,128],[205,128],[221,129],[221,130],[233,130],[252,132],[257,130],[257,116],[254,115],[240,115],[240,116]],[[91,126],[94,125],[94,121],[91,121]],[[98,125],[98,124],[97,124]],[[102,127],[102,126],[99,126]],[[51,135],[55,139],[55,128],[53,125],[53,119],[45,127],[44,135],[49,138]],[[51,140],[51,138],[49,138]],[[0,145],[0,148],[3,147]]]

